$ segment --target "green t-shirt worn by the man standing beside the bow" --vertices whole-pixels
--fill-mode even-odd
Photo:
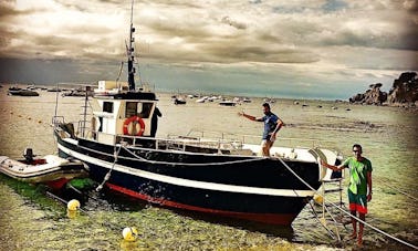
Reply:
[[[363,157],[358,161],[355,157],[349,157],[344,161],[344,166],[349,168],[349,187],[355,195],[367,195],[367,172],[373,171],[372,163]]]

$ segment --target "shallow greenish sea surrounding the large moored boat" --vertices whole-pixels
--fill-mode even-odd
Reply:
[[[0,88],[0,155],[21,158],[30,147],[36,155],[56,154],[51,119],[82,119],[82,97],[38,91],[40,96],[7,95]],[[219,95],[219,94],[217,94]],[[175,105],[170,93],[158,93],[163,117],[157,137],[218,134],[259,144],[263,125],[238,115],[262,116],[261,97],[224,107],[217,102]],[[320,146],[352,155],[353,144],[373,164],[373,199],[360,250],[412,250],[418,245],[418,138],[417,109],[353,105],[335,101],[283,100],[271,103],[285,123],[275,146]],[[87,109],[88,104],[87,104]],[[243,136],[244,135],[244,136]],[[347,208],[347,172],[342,208]],[[306,206],[291,227],[260,226],[177,211],[103,189],[86,194],[82,210],[66,211],[71,198],[51,194],[42,185],[28,185],[0,175],[0,250],[358,250],[349,240],[352,226],[327,221],[321,224],[321,207]],[[325,201],[339,203],[339,195]],[[336,219],[344,213],[330,206]],[[315,217],[314,211],[318,213]],[[338,222],[338,220],[337,220]],[[122,231],[138,230],[136,241]],[[378,229],[379,231],[375,230]],[[384,232],[384,233],[382,233]],[[391,238],[409,243],[407,245]],[[339,238],[338,238],[339,237]]]

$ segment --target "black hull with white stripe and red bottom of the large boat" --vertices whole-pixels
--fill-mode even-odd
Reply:
[[[102,182],[112,169],[111,189],[164,207],[289,226],[313,195],[276,159],[136,147],[122,148],[114,165],[113,146],[58,139],[60,156],[84,161],[91,178]],[[320,187],[317,164],[286,164]]]

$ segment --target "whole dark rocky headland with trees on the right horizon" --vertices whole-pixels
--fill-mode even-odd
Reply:
[[[418,77],[416,72],[404,72],[394,81],[389,93],[382,92],[382,83],[370,84],[365,93],[349,98],[349,103],[418,107]]]

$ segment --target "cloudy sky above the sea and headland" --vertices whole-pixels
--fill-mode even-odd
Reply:
[[[418,71],[417,0],[137,0],[133,18],[157,91],[347,100]],[[129,23],[130,0],[1,0],[0,82],[116,80]]]

